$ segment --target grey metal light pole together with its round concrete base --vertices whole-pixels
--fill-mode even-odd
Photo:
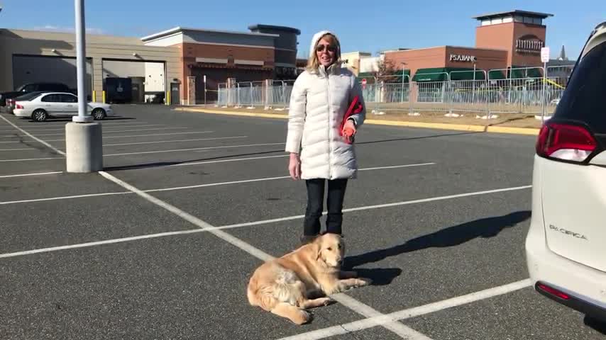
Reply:
[[[67,172],[89,173],[103,170],[101,124],[87,112],[86,26],[84,0],[75,0],[78,115],[65,125]]]

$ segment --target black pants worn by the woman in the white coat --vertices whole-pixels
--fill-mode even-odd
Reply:
[[[314,236],[320,233],[320,217],[324,208],[324,186],[326,179],[308,179],[305,181],[307,186],[307,210],[305,210],[305,220],[303,225],[303,234],[305,236]],[[343,198],[347,179],[328,180],[329,192],[326,198],[328,206],[328,215],[326,217],[326,232],[341,234],[341,224],[343,223]]]

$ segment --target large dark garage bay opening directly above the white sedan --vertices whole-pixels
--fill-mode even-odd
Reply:
[[[77,89],[76,58],[13,55],[13,86],[38,82],[57,82]],[[92,95],[92,64],[87,59],[87,96]]]

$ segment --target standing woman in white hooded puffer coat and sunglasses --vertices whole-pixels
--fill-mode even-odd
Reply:
[[[353,98],[358,96],[362,111],[341,122]],[[348,179],[358,171],[353,135],[365,118],[362,91],[356,76],[341,67],[341,45],[336,35],[321,31],[312,38],[307,69],[294,82],[286,152],[292,179],[304,179],[307,186],[307,209],[302,242],[320,233],[324,208],[324,188],[328,182],[326,232],[341,234],[343,198]]]

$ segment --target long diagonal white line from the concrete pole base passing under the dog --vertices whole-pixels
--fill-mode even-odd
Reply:
[[[130,184],[122,181],[121,179],[117,179],[115,176],[112,176],[111,174],[108,174],[105,171],[99,171],[99,174],[101,174],[101,176],[104,176],[106,179],[109,179],[109,181],[112,181],[112,182],[118,184],[119,186],[122,186],[126,190],[136,193],[138,196],[141,196],[141,198],[148,200],[148,202],[158,205],[161,208],[164,208],[165,210],[168,210],[168,211],[172,212],[173,214],[181,217],[182,219],[187,220],[187,222],[190,222],[193,225],[196,225],[200,229],[208,230],[208,232],[210,232],[211,234],[214,234],[216,237],[219,237],[220,239],[223,239],[224,241],[233,244],[233,246],[236,246],[239,249],[246,251],[248,254],[255,256],[257,259],[260,259],[261,261],[268,261],[270,259],[273,259],[273,256],[265,253],[264,251],[262,251],[258,248],[255,248],[255,246],[248,244],[248,243],[242,241],[241,239],[238,239],[237,237],[234,237],[231,234],[228,234],[222,230],[216,229],[212,225],[209,225],[208,223],[204,222],[203,220],[200,220],[198,217],[189,215],[187,212],[180,210],[179,208],[175,207],[174,205],[170,205],[170,204],[164,202],[163,200],[160,200],[158,198],[155,198],[154,196],[149,195],[148,193],[144,193],[143,191],[139,190],[138,188],[131,186]],[[337,302],[340,302],[343,306],[348,307],[349,309],[353,310],[354,312],[357,312],[358,314],[361,314],[365,317],[382,317],[382,316],[384,316],[384,314],[381,314],[377,310],[374,310],[372,307],[365,305],[362,302],[359,302],[358,300],[354,299],[353,297],[347,296],[343,293],[331,295],[331,297],[334,300],[336,300]],[[385,328],[389,329],[390,331],[394,332],[398,336],[400,336],[402,339],[431,340],[429,337],[426,337],[423,334],[421,334],[417,331],[414,331],[414,329],[411,329],[410,327],[404,326],[404,324],[401,324],[400,322],[385,322],[383,324],[383,326]]]

